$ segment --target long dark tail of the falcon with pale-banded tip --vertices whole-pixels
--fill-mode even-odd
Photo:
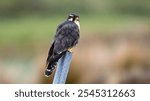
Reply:
[[[47,60],[46,70],[45,70],[45,76],[49,77],[53,70],[57,67],[58,60],[65,55],[66,51],[62,52],[61,54],[55,54],[52,55],[49,60]]]

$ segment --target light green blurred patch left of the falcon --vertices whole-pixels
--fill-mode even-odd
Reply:
[[[7,19],[0,22],[0,43],[22,44],[24,42],[40,41],[43,37],[49,37],[55,32],[59,18],[25,17],[19,19]]]

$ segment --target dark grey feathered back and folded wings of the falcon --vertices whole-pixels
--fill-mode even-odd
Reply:
[[[56,32],[55,43],[54,43],[54,53],[60,54],[68,48],[73,47],[78,43],[79,40],[79,28],[74,22],[66,22],[59,30]]]

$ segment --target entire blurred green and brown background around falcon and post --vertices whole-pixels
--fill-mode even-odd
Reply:
[[[150,83],[149,0],[1,0],[0,83],[51,83],[55,30],[80,15],[67,83]]]

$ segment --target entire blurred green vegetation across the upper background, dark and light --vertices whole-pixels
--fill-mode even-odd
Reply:
[[[113,30],[140,19],[149,22],[149,4],[148,0],[2,0],[0,43],[22,44],[51,37],[58,23],[72,12],[80,14],[83,29],[95,32]],[[92,24],[95,26],[91,28]]]

